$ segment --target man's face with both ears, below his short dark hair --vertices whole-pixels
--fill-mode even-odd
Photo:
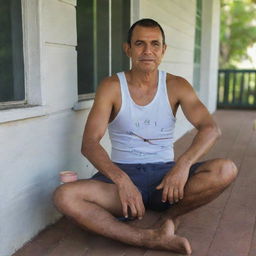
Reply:
[[[152,72],[161,63],[166,45],[158,27],[136,26],[132,33],[131,45],[126,44],[126,54],[132,60],[132,68]]]

